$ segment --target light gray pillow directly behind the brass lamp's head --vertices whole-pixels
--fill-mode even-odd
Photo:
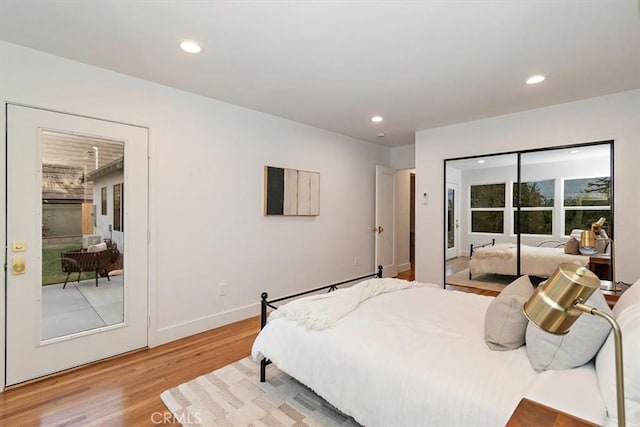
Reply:
[[[585,304],[611,315],[600,289]],[[598,353],[610,329],[605,319],[588,313],[582,313],[565,335],[550,334],[529,322],[526,343],[531,366],[536,371],[582,366]]]

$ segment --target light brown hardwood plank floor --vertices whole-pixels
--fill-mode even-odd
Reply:
[[[414,276],[413,270],[399,275]],[[10,388],[0,393],[0,425],[143,426],[160,424],[164,416],[162,425],[178,425],[171,422],[160,393],[248,356],[259,329],[254,317]]]

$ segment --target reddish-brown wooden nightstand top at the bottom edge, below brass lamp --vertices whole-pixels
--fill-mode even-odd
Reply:
[[[529,399],[522,399],[509,421],[508,427],[587,427],[597,426]]]

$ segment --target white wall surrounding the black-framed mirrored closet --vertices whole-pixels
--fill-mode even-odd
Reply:
[[[492,117],[416,133],[416,279],[442,283],[443,160],[504,151],[614,140],[616,278],[640,277],[634,230],[640,226],[640,90]],[[435,243],[434,243],[435,242]]]

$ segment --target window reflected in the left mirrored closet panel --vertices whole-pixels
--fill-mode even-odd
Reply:
[[[504,233],[506,184],[471,186],[471,231]]]

